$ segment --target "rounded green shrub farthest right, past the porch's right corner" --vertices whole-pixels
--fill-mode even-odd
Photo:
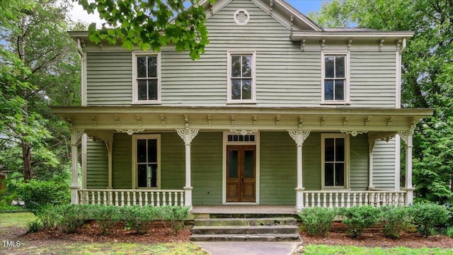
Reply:
[[[435,234],[435,227],[445,224],[451,217],[445,206],[434,203],[418,203],[409,210],[417,232],[425,238]]]

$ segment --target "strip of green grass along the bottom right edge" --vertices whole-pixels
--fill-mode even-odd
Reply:
[[[350,254],[350,255],[430,255],[430,254],[453,254],[453,249],[440,249],[440,248],[381,248],[381,247],[359,247],[359,246],[329,246],[329,245],[307,245],[304,246],[304,255],[311,254]]]

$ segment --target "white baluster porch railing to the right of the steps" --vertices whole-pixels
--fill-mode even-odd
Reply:
[[[404,205],[406,191],[304,191],[304,207],[349,208]]]

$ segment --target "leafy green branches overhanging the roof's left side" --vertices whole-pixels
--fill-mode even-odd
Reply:
[[[188,50],[192,60],[200,58],[209,43],[206,15],[197,5],[200,0],[78,1],[88,13],[97,10],[106,21],[101,29],[96,29],[95,23],[88,28],[90,40],[96,43],[120,41],[128,50],[138,46],[140,50],[154,51],[173,44],[176,50]],[[191,6],[186,8],[188,4]]]

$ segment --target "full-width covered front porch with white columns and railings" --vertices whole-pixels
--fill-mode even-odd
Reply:
[[[207,208],[214,210],[212,206],[215,206],[215,210],[243,208],[253,211],[262,206],[268,206],[268,208],[263,207],[263,210],[269,210],[269,206],[278,205],[278,202],[283,200],[286,204],[285,208],[292,208],[294,212],[314,206],[339,208],[353,205],[411,204],[413,201],[411,165],[413,127],[421,118],[432,113],[431,109],[164,106],[57,107],[53,108],[53,111],[71,125],[73,155],[71,203],[117,206],[185,205],[192,207],[194,211],[202,210],[203,206],[208,206],[203,210],[208,210]],[[233,138],[236,134],[238,140],[229,141],[229,134],[233,134],[231,135]],[[166,156],[163,156],[163,162],[156,162],[163,168],[159,173],[166,176],[161,177],[160,174],[156,174],[159,176],[159,181],[156,181],[154,188],[140,187],[141,184],[137,181],[139,175],[137,169],[133,170],[137,166],[134,166],[135,163],[130,159],[125,162],[115,162],[118,157],[131,157],[130,155],[134,154],[131,150],[133,151],[136,147],[131,141],[134,141],[134,136],[142,135],[159,137],[157,141],[162,142],[162,153],[166,153]],[[248,135],[256,136],[255,143],[251,140],[246,141],[249,139],[246,138]],[[105,144],[108,162],[105,166],[107,173],[105,188],[90,188],[84,184],[87,179],[84,148],[82,148],[81,162],[82,186],[78,181],[79,140],[87,139],[87,136]],[[348,152],[357,152],[351,155],[345,154],[346,159],[340,163],[343,164],[342,171],[347,177],[338,175],[344,181],[333,185],[327,181],[331,177],[325,174],[327,172],[324,167],[327,163],[321,160],[321,154],[325,150],[324,145],[321,146],[321,144],[323,139],[329,137],[344,138],[344,141],[350,142],[352,148],[348,147]],[[404,176],[405,186],[400,188],[399,170],[396,170],[397,166],[393,166],[394,183],[389,188],[375,187],[376,174],[373,171],[376,171],[378,166],[373,166],[374,146],[377,142],[389,140],[392,137],[398,141],[401,137],[406,145],[408,157],[406,157],[406,176]],[[126,142],[118,145],[118,141],[121,140]],[[229,191],[234,186],[229,185],[227,180],[229,178],[227,173],[231,169],[227,164],[229,159],[226,155],[231,149],[235,149],[239,142],[246,142],[246,146],[253,145],[255,148],[253,155],[256,154],[254,157],[257,159],[254,159],[256,166],[253,168],[255,169],[253,173],[256,175],[253,178],[256,183],[255,186],[251,186],[252,188],[243,186],[244,191],[247,190],[252,194],[249,194],[253,196],[251,200],[235,202],[231,200],[231,194],[234,192]],[[118,149],[125,145],[131,148]],[[173,150],[168,149],[168,146]],[[239,148],[239,151],[247,150],[246,146]],[[356,147],[358,149],[355,149]],[[203,153],[206,152],[213,152],[212,155],[214,155],[207,157],[207,161],[203,160],[206,156]],[[395,155],[392,157],[396,159]],[[246,161],[246,159],[243,160]],[[286,170],[281,171],[280,175],[277,175],[280,163],[275,164],[278,160],[280,162],[285,160],[285,167],[282,169]],[[349,166],[351,162],[353,165]],[[115,184],[115,178],[120,178],[115,177],[117,172],[114,169],[119,167],[131,169],[131,164],[132,175],[121,177],[129,180],[128,186]],[[167,170],[173,171],[173,175],[168,174]],[[131,170],[127,172],[130,173]],[[313,176],[312,173],[317,174]],[[282,175],[285,178],[280,178]],[[360,179],[360,184],[357,184],[357,178]],[[169,183],[171,179],[177,181]],[[238,179],[241,182],[241,178]],[[304,179],[308,180],[304,181]],[[316,180],[316,185],[312,180]],[[160,181],[163,183],[160,184]],[[246,181],[242,178],[242,182]],[[277,188],[273,183],[277,183],[275,184]],[[206,185],[210,187],[206,188]],[[332,187],[335,185],[337,186]],[[284,192],[283,189],[285,189]]]

